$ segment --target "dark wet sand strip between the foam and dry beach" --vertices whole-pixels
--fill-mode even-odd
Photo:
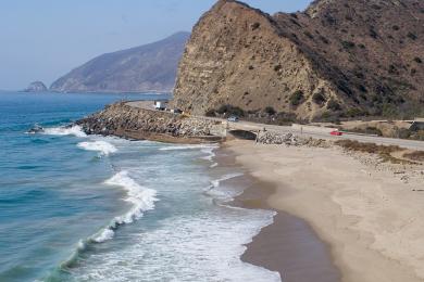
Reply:
[[[224,146],[225,148],[225,146]],[[232,152],[223,149],[225,156],[217,155],[221,165],[235,164]],[[242,187],[245,192],[232,203],[245,208],[272,209],[267,198],[276,187],[260,181],[249,174],[225,181],[230,187]],[[338,282],[339,270],[334,266],[329,248],[302,219],[282,210],[274,223],[265,227],[247,247],[241,259],[255,266],[279,272],[283,281]]]

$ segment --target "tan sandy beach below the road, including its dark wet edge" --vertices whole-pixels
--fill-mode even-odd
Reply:
[[[424,281],[423,167],[379,165],[339,148],[249,141],[224,148],[254,178],[245,203],[263,207],[258,198],[265,197],[265,205],[280,210],[249,245],[245,260],[284,272],[288,282],[325,281],[296,277],[302,267],[317,267],[327,281]],[[288,255],[275,259],[283,254]],[[312,257],[324,262],[310,265]]]

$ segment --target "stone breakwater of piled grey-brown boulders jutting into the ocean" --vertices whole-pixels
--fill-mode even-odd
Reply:
[[[76,124],[88,134],[178,143],[222,141],[225,129],[221,121],[133,107],[125,102],[108,105]]]

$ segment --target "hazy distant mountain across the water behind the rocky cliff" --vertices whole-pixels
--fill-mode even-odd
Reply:
[[[189,38],[177,33],[161,41],[100,55],[54,81],[58,92],[171,92]]]

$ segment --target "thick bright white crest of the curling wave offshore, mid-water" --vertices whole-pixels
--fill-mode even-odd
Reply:
[[[114,231],[119,226],[133,223],[142,217],[144,213],[154,208],[157,191],[139,185],[133,178],[128,176],[128,171],[124,170],[114,175],[111,179],[104,182],[108,185],[116,185],[123,188],[127,197],[126,202],[133,204],[132,208],[122,216],[115,217],[111,223],[101,230],[99,233],[90,238],[96,243],[102,243],[113,239]]]

